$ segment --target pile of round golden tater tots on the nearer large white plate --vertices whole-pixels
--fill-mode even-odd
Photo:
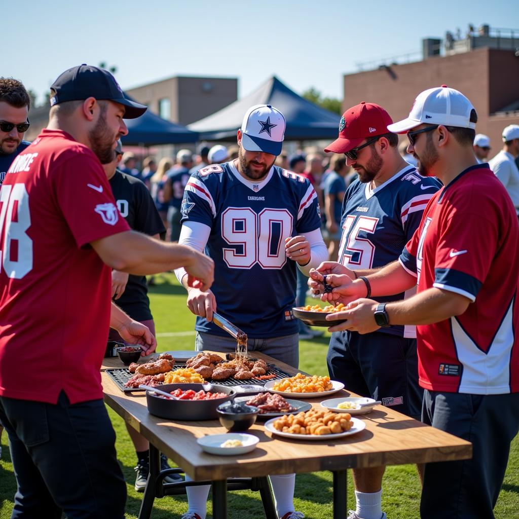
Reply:
[[[310,409],[306,413],[284,415],[274,422],[274,429],[292,434],[338,434],[353,427],[349,413],[330,413]]]

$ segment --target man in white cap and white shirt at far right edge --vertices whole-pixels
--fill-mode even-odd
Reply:
[[[509,125],[503,130],[503,149],[488,164],[507,188],[519,217],[519,169],[515,163],[519,157],[519,125]]]

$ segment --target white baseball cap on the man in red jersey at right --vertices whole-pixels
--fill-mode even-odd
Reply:
[[[447,85],[429,88],[418,94],[409,116],[388,125],[388,130],[406,133],[424,123],[474,129],[476,124],[470,121],[472,110],[472,103],[458,90]]]

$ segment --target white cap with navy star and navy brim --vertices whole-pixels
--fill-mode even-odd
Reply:
[[[269,104],[247,110],[241,124],[241,144],[248,152],[279,155],[283,147],[286,122],[283,114]]]

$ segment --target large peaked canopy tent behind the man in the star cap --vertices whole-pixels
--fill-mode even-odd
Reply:
[[[276,76],[243,99],[187,127],[206,141],[233,141],[245,112],[256,104],[275,106],[286,119],[285,140],[317,140],[337,137],[340,116],[304,99]]]

